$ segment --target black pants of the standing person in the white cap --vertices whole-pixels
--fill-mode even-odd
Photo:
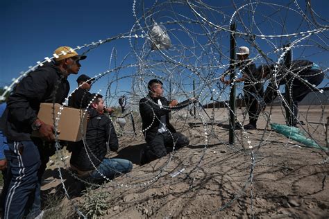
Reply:
[[[248,110],[249,123],[256,126],[258,116],[260,116],[260,97],[263,96],[263,87],[255,85],[255,87],[244,87],[244,103]]]

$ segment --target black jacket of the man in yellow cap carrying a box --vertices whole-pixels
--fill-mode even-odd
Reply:
[[[69,94],[69,82],[53,62],[28,73],[16,85],[1,118],[8,141],[31,141],[31,124],[37,119],[40,103],[62,104]]]

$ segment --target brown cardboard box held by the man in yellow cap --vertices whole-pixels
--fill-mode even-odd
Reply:
[[[58,117],[60,107],[62,105],[55,103],[41,103],[37,118],[41,119],[44,123],[53,125],[53,106],[55,107],[55,119]],[[70,107],[63,107],[58,122],[58,139],[65,141],[80,141],[85,135],[87,128],[87,114],[83,116],[85,110],[74,109]],[[81,127],[83,133],[81,133]],[[40,137],[39,132],[33,131],[33,137]]]

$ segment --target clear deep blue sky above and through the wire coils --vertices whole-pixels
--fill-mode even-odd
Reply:
[[[140,3],[140,1],[137,1]],[[235,8],[232,6],[232,1],[205,1],[211,5],[217,4],[218,6],[228,6],[223,9],[228,15],[232,15]],[[242,6],[243,1],[235,1],[237,7]],[[241,3],[242,2],[242,3]],[[248,1],[246,1],[248,2]],[[271,3],[282,3],[292,8],[296,8],[292,1],[268,1]],[[151,6],[153,1],[145,1],[145,3],[150,3],[146,5],[146,8]],[[298,1],[301,8],[305,9],[305,1]],[[314,10],[321,15],[323,19],[328,20],[328,8],[329,1],[312,1]],[[253,9],[253,8],[251,8]],[[276,6],[261,6],[255,9],[255,15],[259,15],[261,19],[262,15],[271,15],[274,11],[278,9]],[[194,17],[189,8],[183,7],[170,9],[180,11],[181,15]],[[243,20],[246,26],[251,26],[251,20],[248,20],[248,13],[242,12],[244,16]],[[142,10],[137,7],[138,16],[142,15]],[[157,12],[153,15],[156,21],[173,21],[176,19],[183,19],[183,16],[173,15],[170,11],[166,15],[166,11],[160,13]],[[287,17],[285,17],[287,15]],[[302,30],[310,30],[312,27],[309,26],[307,22],[301,22],[301,16],[296,16],[296,12],[292,10],[282,11],[280,17],[267,17],[264,21],[258,20],[258,27],[262,28],[262,32],[265,35],[279,35],[282,33],[295,33]],[[29,0],[29,1],[18,1],[18,0],[1,0],[0,1],[0,24],[1,24],[1,53],[0,53],[0,87],[8,85],[11,83],[12,78],[17,78],[19,72],[28,70],[29,66],[34,66],[37,61],[42,61],[44,57],[51,57],[53,51],[58,46],[81,46],[83,44],[89,44],[90,42],[97,42],[98,40],[104,40],[108,37],[113,37],[119,35],[120,33],[128,33],[130,28],[135,24],[135,18],[133,17],[133,1],[121,0],[121,1],[63,1],[63,0]],[[176,17],[177,16],[177,17]],[[269,22],[269,18],[273,19]],[[228,19],[219,18],[219,14],[214,13],[213,15],[208,15],[208,19],[214,24],[227,25]],[[238,18],[237,18],[238,19]],[[281,20],[280,20],[281,19]],[[321,21],[321,20],[319,20]],[[249,22],[249,23],[248,23]],[[282,28],[280,24],[285,24],[285,28]],[[321,21],[321,24],[326,24],[325,21]],[[143,24],[142,24],[143,25]],[[328,25],[328,23],[326,24]],[[227,26],[226,26],[227,27]],[[192,45],[192,40],[190,36],[183,31],[179,30],[178,27],[169,29],[170,37],[173,44],[186,43],[187,45]],[[237,29],[246,31],[241,22],[237,22]],[[194,31],[192,28],[189,31]],[[196,32],[201,32],[201,28],[196,28]],[[257,28],[253,27],[251,30],[253,33],[260,34]],[[141,32],[140,32],[141,33]],[[173,34],[171,34],[173,33]],[[175,35],[174,35],[175,34]],[[185,38],[186,37],[186,38]],[[326,38],[327,37],[327,38]],[[198,36],[200,42],[203,42],[203,38]],[[222,64],[227,64],[228,60],[223,55],[228,57],[228,35],[223,37],[223,43],[221,44],[221,55]],[[283,44],[289,42],[290,40],[295,40],[294,37],[282,37],[278,39],[273,39],[271,42],[265,40],[257,40],[259,46],[264,49],[264,51],[273,51],[272,44]],[[142,41],[140,41],[140,44]],[[294,58],[307,58],[314,62],[321,62],[323,67],[328,67],[328,51],[323,52],[320,50],[317,43],[321,46],[327,46],[328,49],[328,30],[321,34],[321,39],[319,37],[311,38],[310,41],[303,41],[298,44],[301,47],[294,49]],[[140,45],[139,44],[139,45]],[[237,39],[238,46],[246,44],[245,39]],[[310,47],[307,51],[304,49],[304,45]],[[311,46],[310,46],[311,45]],[[311,48],[313,46],[313,48]],[[115,40],[108,44],[99,46],[99,48],[94,49],[87,54],[87,60],[81,62],[82,67],[80,73],[85,73],[88,76],[94,76],[97,73],[101,73],[109,69],[109,60],[112,49],[117,50],[117,63],[121,62],[124,56],[131,51],[130,45],[127,39]],[[305,47],[306,48],[306,47]],[[80,52],[80,51],[78,51]],[[256,53],[257,51],[251,50],[251,53]],[[151,55],[154,53],[151,53]],[[168,53],[169,54],[169,53]],[[170,53],[173,55],[175,53]],[[179,53],[178,53],[179,54]],[[176,54],[177,55],[177,54]],[[271,54],[269,57],[274,60],[277,58],[277,54]],[[158,55],[153,55],[156,60]],[[195,60],[188,60],[189,63],[193,63]],[[207,60],[204,60],[207,62]],[[126,60],[126,64],[135,63],[134,58],[129,57]],[[258,60],[258,62],[262,62]],[[112,67],[114,67],[114,62],[112,62]],[[195,63],[193,63],[195,64]],[[122,69],[120,71],[120,76],[125,76],[135,73],[136,69]],[[157,70],[155,70],[156,72]],[[161,69],[159,70],[161,71]],[[176,69],[174,70],[176,71]],[[178,71],[178,70],[177,70]],[[217,71],[217,73],[220,73]],[[180,80],[184,80],[185,76],[189,76],[187,72],[185,75],[180,75]],[[69,82],[71,84],[71,89],[76,86],[76,78],[78,76],[69,76]],[[124,81],[124,80],[123,80]],[[116,91],[124,91],[130,88],[129,83],[131,80],[126,79],[126,82],[122,83],[117,88]],[[98,89],[106,89],[107,80],[101,80],[92,87],[92,91],[98,91]],[[328,79],[323,81],[321,87],[328,86]],[[177,88],[178,89],[178,88]]]

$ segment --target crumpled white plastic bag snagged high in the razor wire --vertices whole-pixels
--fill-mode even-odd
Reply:
[[[167,34],[165,26],[159,25],[156,22],[154,22],[153,27],[151,29],[150,38],[152,50],[169,49],[171,46],[171,40],[169,35]]]

